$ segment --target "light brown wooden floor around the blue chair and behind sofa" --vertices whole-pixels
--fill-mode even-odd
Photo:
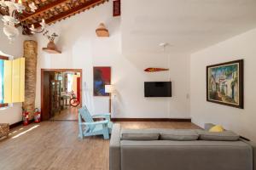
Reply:
[[[120,122],[126,128],[198,128],[190,122]],[[0,170],[108,170],[109,140],[78,139],[78,122],[12,129],[0,141]]]

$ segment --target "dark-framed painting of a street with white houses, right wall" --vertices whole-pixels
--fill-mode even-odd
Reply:
[[[207,101],[243,109],[243,60],[207,66]]]

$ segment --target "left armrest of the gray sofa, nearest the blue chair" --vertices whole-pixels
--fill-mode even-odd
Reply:
[[[114,123],[109,143],[109,170],[121,170],[120,133],[121,125]]]

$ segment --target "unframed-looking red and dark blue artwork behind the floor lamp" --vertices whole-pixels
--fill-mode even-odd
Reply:
[[[109,96],[105,93],[105,85],[111,82],[110,67],[93,67],[93,94],[94,96]]]

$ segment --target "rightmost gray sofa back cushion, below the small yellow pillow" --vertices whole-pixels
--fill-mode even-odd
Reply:
[[[201,140],[215,140],[215,141],[236,141],[239,139],[239,135],[232,131],[224,131],[220,133],[212,133],[204,130],[197,130],[199,139]]]

